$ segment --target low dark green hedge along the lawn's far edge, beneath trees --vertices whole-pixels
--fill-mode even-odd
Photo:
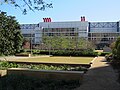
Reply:
[[[17,55],[28,55],[30,52],[30,50],[24,50],[22,53]],[[32,53],[33,55],[49,55],[49,50],[32,50]],[[50,50],[50,54],[53,56],[98,56],[98,52],[94,52],[92,49]]]

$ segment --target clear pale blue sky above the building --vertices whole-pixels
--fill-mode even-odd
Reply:
[[[120,20],[120,0],[45,0],[53,3],[52,9],[28,11],[23,15],[19,8],[2,4],[0,10],[16,17],[20,24],[37,24],[50,17],[52,22],[80,21],[85,16],[89,22],[116,22]]]

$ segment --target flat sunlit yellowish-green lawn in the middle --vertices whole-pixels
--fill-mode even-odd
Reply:
[[[41,62],[41,63],[64,63],[64,64],[89,64],[94,57],[30,57],[10,61],[18,62]]]

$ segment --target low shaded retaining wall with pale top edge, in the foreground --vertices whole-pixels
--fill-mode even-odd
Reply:
[[[84,71],[53,71],[53,70],[32,70],[23,68],[11,68],[7,70],[7,75],[10,74],[25,75],[39,79],[82,81]]]

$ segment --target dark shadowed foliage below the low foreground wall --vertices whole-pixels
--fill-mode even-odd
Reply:
[[[9,75],[0,78],[1,90],[73,90],[80,84],[79,80],[41,80],[24,75]]]

